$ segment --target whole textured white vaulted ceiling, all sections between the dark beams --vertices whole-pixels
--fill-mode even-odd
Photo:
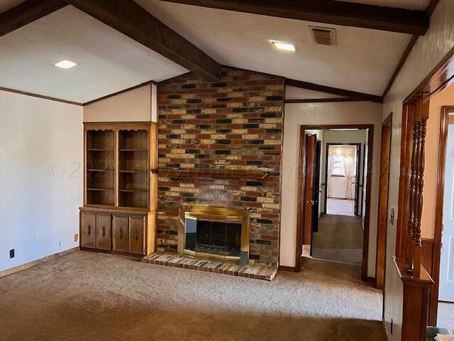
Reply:
[[[134,1],[221,65],[378,96],[411,40],[406,33]],[[1,1],[0,13],[21,2]],[[425,10],[429,0],[349,2]],[[336,45],[317,45],[309,26],[336,29]],[[294,43],[297,51],[279,52],[270,39]],[[70,70],[53,66],[62,59],[78,65]],[[82,103],[188,71],[73,6],[0,36],[0,65],[0,87]]]

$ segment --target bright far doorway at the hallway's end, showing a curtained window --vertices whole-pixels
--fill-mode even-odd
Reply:
[[[358,215],[361,144],[327,143],[325,160],[325,212]]]

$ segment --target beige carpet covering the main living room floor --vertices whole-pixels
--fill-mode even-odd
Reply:
[[[0,340],[384,341],[355,266],[260,281],[80,251],[0,278]]]

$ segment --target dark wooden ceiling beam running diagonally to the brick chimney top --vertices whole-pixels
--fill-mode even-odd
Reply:
[[[221,65],[216,60],[133,0],[65,1],[206,80],[216,82],[221,77]]]

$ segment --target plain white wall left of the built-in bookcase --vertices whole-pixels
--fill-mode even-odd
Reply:
[[[0,271],[79,246],[82,136],[82,107],[0,91]]]

